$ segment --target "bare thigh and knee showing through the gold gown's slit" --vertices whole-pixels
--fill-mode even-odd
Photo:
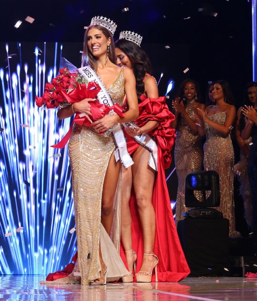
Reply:
[[[109,235],[111,234],[111,225],[113,220],[113,199],[118,183],[120,170],[121,163],[120,161],[116,163],[114,153],[112,153],[104,179],[101,210],[101,222]]]

